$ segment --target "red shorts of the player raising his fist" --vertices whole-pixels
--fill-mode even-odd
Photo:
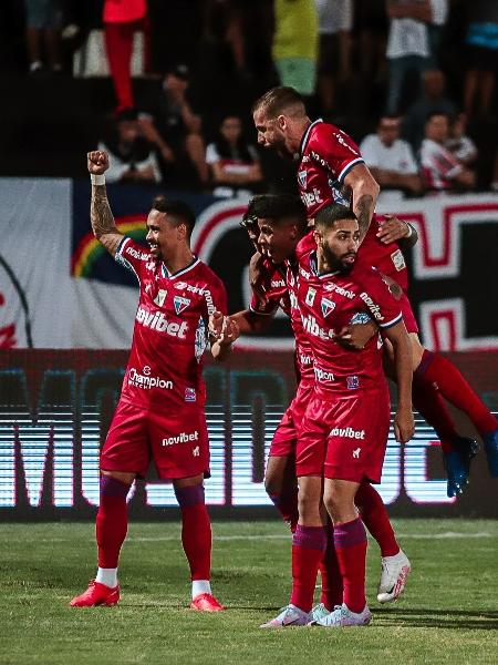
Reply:
[[[209,477],[209,440],[204,409],[188,406],[175,416],[117,403],[101,452],[101,469],[144,478],[151,457],[162,479]]]

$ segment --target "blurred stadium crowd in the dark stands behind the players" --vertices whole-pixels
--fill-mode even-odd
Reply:
[[[252,145],[248,106],[280,83],[312,116],[363,140],[383,191],[498,187],[496,3],[9,0],[2,13],[3,71],[111,74],[114,109],[103,110],[100,140],[127,165],[116,181],[258,192],[272,168]],[[235,125],[229,140],[235,130],[224,127]],[[154,162],[145,176],[142,157]],[[386,160],[388,171],[378,167]]]

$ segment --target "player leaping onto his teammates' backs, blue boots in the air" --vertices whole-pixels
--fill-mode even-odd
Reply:
[[[373,181],[357,145],[336,126],[311,122],[301,96],[292,88],[274,88],[253,104],[258,142],[281,156],[297,157],[298,187],[310,221],[326,204],[352,206],[360,225],[359,258],[367,260],[402,287],[407,287],[403,256],[390,234],[373,216],[378,186]],[[409,233],[409,225],[406,225]],[[477,451],[473,439],[459,437],[443,398],[466,413],[485,443],[491,475],[498,477],[498,422],[458,369],[439,354],[425,349],[407,298],[403,313],[414,359],[414,403],[436,430],[448,474],[448,495],[460,494],[468,480],[469,464]]]

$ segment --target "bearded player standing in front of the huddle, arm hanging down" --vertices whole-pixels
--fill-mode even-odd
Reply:
[[[354,213],[325,206],[315,218],[318,250],[300,259],[298,305],[313,351],[314,391],[297,446],[299,523],[292,545],[290,604],[263,627],[304,625],[310,621],[317,572],[331,538],[321,501],[333,523],[333,543],[343,580],[343,602],[314,623],[366,625],[366,534],[355,497],[362,483],[380,482],[390,427],[390,399],[377,336],[361,351],[336,342],[336,334],[361,320],[374,320],[394,349],[398,403],[396,439],[414,432],[412,350],[400,303],[381,274],[355,266],[360,229]]]

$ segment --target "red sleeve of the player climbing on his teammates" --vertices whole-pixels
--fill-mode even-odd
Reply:
[[[318,163],[323,160],[333,178],[340,183],[356,164],[364,164],[359,146],[335,125],[318,124],[309,147],[312,158]]]

